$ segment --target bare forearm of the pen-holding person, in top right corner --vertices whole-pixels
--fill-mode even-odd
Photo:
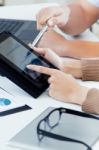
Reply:
[[[66,6],[63,6],[64,9]],[[86,1],[79,1],[68,5],[71,10],[68,23],[61,27],[67,34],[77,35],[90,27],[97,19],[99,10]]]

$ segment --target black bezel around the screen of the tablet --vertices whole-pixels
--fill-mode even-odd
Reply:
[[[22,46],[27,48],[30,52],[34,53],[37,57],[39,57],[42,61],[47,63],[51,68],[56,68],[43,57],[41,57],[38,53],[33,51],[28,45],[20,41],[17,37],[12,35],[9,32],[3,32],[0,34],[0,43],[6,38],[12,37],[17,42],[19,42]],[[3,76],[8,77],[10,80],[19,85],[22,89],[27,91],[33,97],[37,98],[43,91],[48,87],[48,76],[44,75],[43,79],[40,79],[40,82],[33,80],[29,75],[25,74],[20,68],[10,62],[7,58],[0,54],[0,72]]]

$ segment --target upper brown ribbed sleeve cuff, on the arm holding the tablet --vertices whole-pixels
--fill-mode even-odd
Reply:
[[[82,80],[99,81],[99,57],[82,58]]]

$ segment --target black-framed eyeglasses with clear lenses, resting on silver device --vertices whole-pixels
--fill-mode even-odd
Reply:
[[[38,123],[37,135],[38,135],[39,141],[42,141],[42,139],[45,136],[45,137],[53,138],[53,139],[60,140],[60,141],[70,141],[70,142],[82,144],[82,145],[86,146],[88,148],[88,150],[92,150],[92,148],[83,141],[65,137],[65,136],[61,136],[59,134],[55,134],[55,133],[51,132],[51,130],[53,128],[55,128],[56,126],[59,125],[61,116],[63,113],[73,114],[73,115],[78,115],[78,116],[82,116],[82,117],[88,117],[88,118],[93,118],[93,119],[99,120],[99,118],[97,118],[95,116],[85,114],[82,112],[78,112],[75,110],[65,109],[62,107],[53,109],[44,119],[40,120],[40,122]]]

